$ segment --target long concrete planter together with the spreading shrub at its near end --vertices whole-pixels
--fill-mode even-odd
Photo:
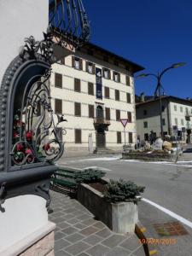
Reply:
[[[78,200],[114,232],[133,233],[138,220],[137,202],[144,187],[123,179],[105,182],[102,188],[81,183]]]

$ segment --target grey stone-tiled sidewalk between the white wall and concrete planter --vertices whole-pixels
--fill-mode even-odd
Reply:
[[[56,224],[55,256],[144,256],[135,234],[113,233],[67,195],[50,191],[49,220]]]

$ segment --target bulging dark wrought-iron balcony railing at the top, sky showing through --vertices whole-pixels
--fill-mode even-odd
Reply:
[[[87,42],[90,38],[90,23],[82,0],[49,0],[49,27],[62,35],[58,42],[60,44],[65,43],[65,39],[75,47]]]

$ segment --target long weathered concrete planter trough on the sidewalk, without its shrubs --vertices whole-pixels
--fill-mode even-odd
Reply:
[[[116,233],[134,233],[138,221],[137,205],[131,202],[109,203],[102,193],[88,184],[80,184],[78,201]]]

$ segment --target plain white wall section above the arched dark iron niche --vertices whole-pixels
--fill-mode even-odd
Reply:
[[[48,0],[0,0],[0,84],[24,38],[43,38],[48,26]]]

